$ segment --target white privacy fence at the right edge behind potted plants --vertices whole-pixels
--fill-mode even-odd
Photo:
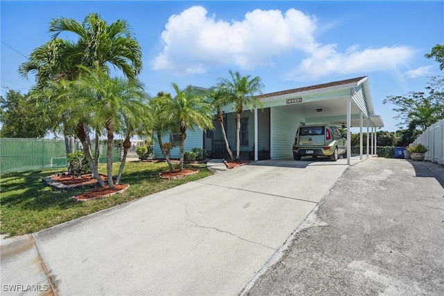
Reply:
[[[421,133],[413,144],[422,144],[429,147],[425,154],[425,161],[432,161],[444,165],[444,120],[429,126]]]

